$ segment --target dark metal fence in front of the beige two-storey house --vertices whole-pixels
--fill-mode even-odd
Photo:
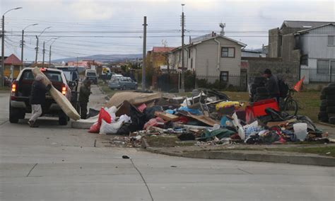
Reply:
[[[247,74],[220,76],[201,76],[185,73],[185,91],[194,88],[211,88],[218,91],[247,91]],[[180,88],[181,76],[161,74],[157,78],[157,88],[160,91],[177,92]]]

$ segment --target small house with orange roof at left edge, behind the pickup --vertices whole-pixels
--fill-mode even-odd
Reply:
[[[20,67],[22,67],[22,62],[15,54],[9,55],[9,57],[5,57],[4,60],[4,76],[7,76],[10,79],[16,79],[18,74],[20,73]]]

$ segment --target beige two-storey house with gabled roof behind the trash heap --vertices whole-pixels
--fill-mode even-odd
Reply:
[[[243,42],[216,33],[195,38],[184,47],[185,68],[194,71],[198,79],[227,81],[234,85],[229,77],[240,76],[241,49],[245,46]],[[182,47],[172,50],[168,61],[170,68],[181,69]]]

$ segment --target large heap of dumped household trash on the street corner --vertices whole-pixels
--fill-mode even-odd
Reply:
[[[91,118],[95,123],[89,132],[122,135],[113,140],[128,147],[140,146],[143,137],[170,135],[196,144],[329,142],[309,117],[278,111],[274,99],[230,101],[205,88],[194,90],[192,97],[121,92]]]

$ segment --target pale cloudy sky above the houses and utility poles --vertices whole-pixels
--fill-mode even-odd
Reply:
[[[225,35],[257,49],[268,43],[268,30],[280,27],[284,20],[335,21],[335,3],[330,1],[221,1],[221,0],[0,0],[5,16],[5,52],[20,57],[20,38],[25,29],[25,60],[35,59],[35,35],[46,42],[46,54],[52,45],[52,59],[84,57],[92,54],[132,54],[142,52],[143,16],[148,17],[148,49],[181,44],[181,4],[189,36],[219,32],[225,23]],[[48,57],[47,57],[48,58]]]

